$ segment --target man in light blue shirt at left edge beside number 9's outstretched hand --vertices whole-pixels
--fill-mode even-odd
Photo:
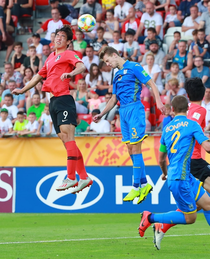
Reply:
[[[9,80],[8,81],[8,89],[4,90],[2,93],[2,101],[1,101],[1,107],[4,104],[4,97],[6,94],[11,94],[11,92],[17,88],[15,80]],[[18,88],[19,89],[19,88]],[[19,94],[19,95],[13,95],[13,104],[17,106],[19,111],[25,111],[24,105],[25,105],[25,94]]]

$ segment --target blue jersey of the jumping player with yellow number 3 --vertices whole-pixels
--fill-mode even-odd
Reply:
[[[151,77],[136,62],[126,60],[123,67],[115,73],[113,79],[113,94],[116,94],[120,105],[126,105],[140,100],[141,83],[146,84]]]

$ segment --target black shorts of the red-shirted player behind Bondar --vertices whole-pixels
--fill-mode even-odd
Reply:
[[[204,182],[210,176],[210,165],[202,158],[191,159],[190,172],[195,178]]]

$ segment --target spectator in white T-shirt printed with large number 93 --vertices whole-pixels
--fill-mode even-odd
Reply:
[[[142,44],[147,36],[147,29],[149,27],[155,28],[157,36],[159,36],[161,40],[163,39],[163,19],[162,16],[154,10],[154,4],[148,2],[146,4],[146,12],[141,16],[141,22],[134,36],[134,41],[138,40],[138,42]],[[145,28],[144,36],[142,36],[143,28]]]

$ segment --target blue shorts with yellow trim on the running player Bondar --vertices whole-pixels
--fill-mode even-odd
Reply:
[[[196,212],[196,201],[205,193],[203,182],[190,174],[190,179],[185,180],[168,180],[169,190],[172,192],[177,207],[186,214]]]

